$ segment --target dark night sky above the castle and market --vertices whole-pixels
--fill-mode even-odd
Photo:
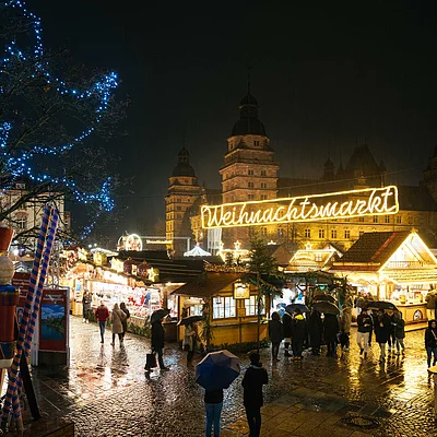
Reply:
[[[220,188],[248,68],[280,176],[319,177],[329,151],[345,164],[366,138],[399,182],[416,184],[437,143],[435,1],[27,4],[47,46],[115,69],[132,99],[129,134],[107,144],[134,190],[116,199],[129,209],[113,235],[164,218],[184,138],[199,180]]]

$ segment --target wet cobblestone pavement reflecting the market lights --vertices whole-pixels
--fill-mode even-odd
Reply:
[[[63,422],[74,422],[78,436],[204,435],[202,391],[176,345],[165,351],[170,370],[146,378],[147,340],[127,334],[123,349],[118,339],[113,347],[107,332],[101,345],[97,326],[74,317],[71,332],[69,369],[33,369],[43,418],[26,422],[25,435],[44,436]],[[423,331],[408,332],[405,356],[391,355],[386,364],[378,363],[376,344],[367,361],[351,344],[338,358],[282,357],[274,365],[262,352],[270,376],[263,436],[437,436]],[[243,370],[247,364],[243,357]],[[247,435],[240,378],[225,391],[223,436]]]

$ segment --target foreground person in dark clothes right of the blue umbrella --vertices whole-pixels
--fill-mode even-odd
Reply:
[[[269,383],[267,370],[260,363],[258,352],[249,355],[250,366],[243,378],[244,405],[249,424],[249,437],[259,437],[261,432],[262,386]]]

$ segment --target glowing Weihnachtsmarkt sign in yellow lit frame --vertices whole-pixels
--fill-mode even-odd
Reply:
[[[388,215],[399,212],[398,187],[203,205],[202,227],[258,226],[292,222]]]

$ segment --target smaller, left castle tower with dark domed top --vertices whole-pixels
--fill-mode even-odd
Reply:
[[[172,249],[178,255],[187,250],[187,241],[175,237],[192,237],[190,220],[187,211],[200,196],[200,187],[190,165],[187,149],[178,153],[178,163],[168,178],[168,190],[165,197],[166,239],[173,240]]]

